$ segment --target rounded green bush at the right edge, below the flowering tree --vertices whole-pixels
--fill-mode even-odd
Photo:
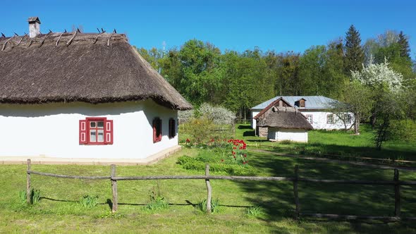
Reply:
[[[389,140],[416,142],[416,122],[410,119],[391,121]]]

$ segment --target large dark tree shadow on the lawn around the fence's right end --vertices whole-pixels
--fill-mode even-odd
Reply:
[[[271,176],[293,177],[294,166],[298,164],[300,177],[304,178],[393,180],[393,170],[288,159],[260,152],[252,152],[252,154],[250,165],[261,168]],[[415,180],[416,174],[412,173],[411,175],[412,180]],[[237,181],[235,183],[245,190],[245,199],[248,202],[263,207],[267,214],[266,221],[280,221],[282,218],[294,216],[293,183],[269,181]],[[394,216],[394,187],[392,185],[338,185],[300,182],[298,189],[301,212]],[[416,197],[415,187],[405,188],[403,186],[402,194],[402,215],[416,216],[416,203],[415,199],[412,199],[412,197]],[[324,219],[324,221],[328,221],[328,219]],[[355,225],[352,225],[357,232],[397,233],[396,229],[389,226],[362,226],[360,223],[362,222],[355,221]],[[400,223],[398,225],[400,226]],[[408,226],[403,227],[408,228]],[[414,223],[411,228],[412,231],[416,231],[413,229],[416,228]],[[280,231],[276,229],[276,232]]]

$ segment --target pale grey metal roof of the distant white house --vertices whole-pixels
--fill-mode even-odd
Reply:
[[[299,101],[300,99],[305,99],[305,107],[298,107],[299,109],[327,109],[330,107],[332,102],[336,102],[335,99],[331,99],[329,97],[324,96],[277,96],[267,101],[264,101],[262,104],[258,104],[252,109],[262,110],[269,106],[271,102],[276,101],[276,99],[282,98],[283,100],[287,101],[288,104],[295,106],[295,101]]]

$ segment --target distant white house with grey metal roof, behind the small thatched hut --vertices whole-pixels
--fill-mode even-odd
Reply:
[[[256,135],[267,136],[267,128],[257,125],[257,122],[264,118],[271,111],[273,106],[295,107],[302,112],[307,121],[314,129],[341,130],[351,128],[354,125],[353,113],[331,112],[331,104],[336,103],[334,99],[323,96],[278,96],[262,104],[254,106],[252,113],[252,128],[256,130]]]

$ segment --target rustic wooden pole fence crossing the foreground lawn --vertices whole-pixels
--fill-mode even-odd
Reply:
[[[31,192],[31,175],[50,176],[55,178],[72,178],[72,179],[85,179],[85,180],[111,180],[111,190],[113,194],[112,211],[116,212],[118,209],[118,180],[205,180],[207,185],[207,213],[211,213],[211,200],[212,200],[212,186],[209,180],[254,180],[254,181],[292,181],[293,182],[293,197],[295,202],[295,216],[312,216],[318,218],[341,218],[341,219],[371,219],[382,221],[401,221],[412,220],[416,221],[416,217],[401,217],[400,216],[400,186],[401,185],[416,185],[416,181],[403,181],[399,180],[399,171],[394,169],[393,180],[327,180],[327,179],[312,179],[301,178],[299,176],[299,166],[295,166],[293,177],[262,177],[262,176],[209,176],[209,164],[205,167],[204,176],[116,176],[116,165],[111,164],[110,176],[66,176],[57,175],[52,173],[44,173],[31,170],[31,161],[27,159],[27,204],[30,204],[30,192]],[[393,185],[394,187],[394,216],[356,216],[356,215],[340,215],[340,214],[312,214],[301,213],[300,202],[298,193],[298,183],[330,183],[330,184],[350,184],[350,185]]]

